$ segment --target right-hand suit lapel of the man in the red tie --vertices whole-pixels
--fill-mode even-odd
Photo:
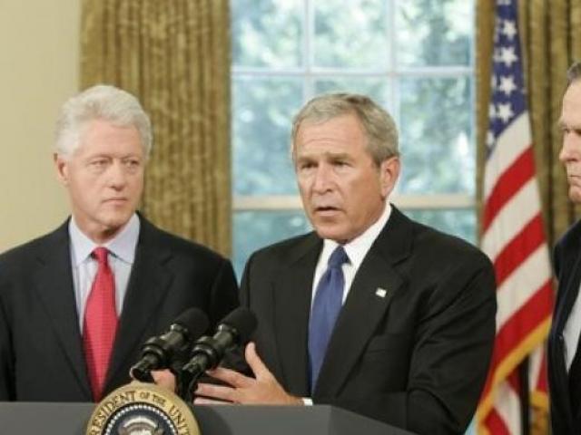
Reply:
[[[165,266],[171,258],[171,251],[155,243],[157,229],[140,217],[141,229],[135,251],[135,263],[127,285],[123,301],[123,312],[119,319],[119,329],[115,337],[111,363],[107,372],[105,389],[118,376],[127,373],[119,371],[126,367],[125,361],[134,349],[142,344],[143,333],[156,306],[161,303],[172,282],[172,273]]]

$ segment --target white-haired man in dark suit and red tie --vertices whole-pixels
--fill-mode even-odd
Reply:
[[[182,311],[216,324],[238,304],[228,260],[135,212],[151,146],[128,92],[64,104],[54,164],[72,216],[0,256],[0,401],[98,401]]]

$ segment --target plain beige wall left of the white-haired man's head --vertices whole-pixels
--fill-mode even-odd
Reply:
[[[51,147],[78,88],[79,23],[79,0],[0,0],[0,252],[67,216]]]

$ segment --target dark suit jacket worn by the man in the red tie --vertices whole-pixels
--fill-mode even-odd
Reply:
[[[0,256],[0,401],[92,401],[67,225]],[[183,310],[216,324],[237,304],[230,261],[141,218],[104,393],[130,381],[143,342]]]

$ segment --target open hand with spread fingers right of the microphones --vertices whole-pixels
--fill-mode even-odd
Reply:
[[[246,346],[244,356],[256,378],[250,378],[239,372],[218,367],[208,371],[208,374],[212,378],[226,382],[228,385],[200,383],[198,384],[198,389],[194,392],[204,397],[197,397],[193,402],[197,405],[224,402],[255,405],[303,404],[300,398],[291,396],[284,391],[281,384],[277,382],[266,365],[264,365],[264,362],[261,361],[261,358],[256,353],[254,343],[249,343]]]

